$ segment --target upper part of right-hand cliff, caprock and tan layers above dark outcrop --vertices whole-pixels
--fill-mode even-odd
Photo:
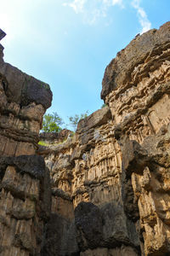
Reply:
[[[105,70],[103,88],[116,83],[105,95],[115,124],[139,143],[169,122],[169,35],[168,22],[134,38]]]

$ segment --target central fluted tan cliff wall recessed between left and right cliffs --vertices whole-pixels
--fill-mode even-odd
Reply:
[[[54,219],[63,223],[59,230],[47,225],[43,252],[139,255],[139,236],[123,207],[122,153],[114,137],[110,108],[82,119],[74,137],[58,146],[40,147],[38,154],[45,157],[50,171],[53,223]],[[54,234],[60,245],[55,250],[50,243]]]

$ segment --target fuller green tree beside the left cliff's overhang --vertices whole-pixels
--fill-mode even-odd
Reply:
[[[42,131],[44,132],[59,132],[62,130],[60,125],[63,125],[63,120],[58,113],[47,113],[43,116]]]

